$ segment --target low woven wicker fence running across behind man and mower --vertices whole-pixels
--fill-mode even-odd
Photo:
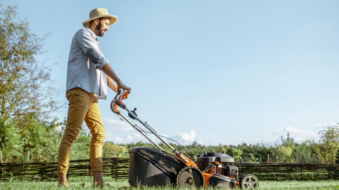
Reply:
[[[57,179],[57,163],[0,164],[0,178]],[[114,179],[128,178],[129,158],[102,159],[102,175]],[[292,164],[292,163],[234,163],[239,177],[252,173],[260,180],[339,180],[339,164]],[[68,176],[91,176],[89,160],[73,160],[69,163]]]

